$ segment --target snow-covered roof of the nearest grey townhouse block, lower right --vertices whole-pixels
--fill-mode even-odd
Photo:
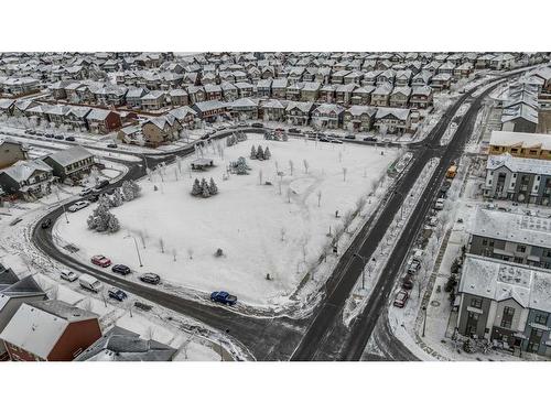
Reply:
[[[551,272],[539,268],[466,254],[458,291],[551,312]]]

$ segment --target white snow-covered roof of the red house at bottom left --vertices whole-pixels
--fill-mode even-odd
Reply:
[[[71,323],[93,318],[97,315],[62,301],[23,303],[0,338],[46,359]]]

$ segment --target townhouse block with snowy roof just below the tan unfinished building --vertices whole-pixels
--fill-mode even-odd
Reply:
[[[516,157],[510,153],[489,155],[484,196],[520,203],[550,205],[551,161]]]

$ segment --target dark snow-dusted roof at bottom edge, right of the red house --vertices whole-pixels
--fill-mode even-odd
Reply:
[[[84,350],[75,361],[171,361],[176,349],[119,326]]]

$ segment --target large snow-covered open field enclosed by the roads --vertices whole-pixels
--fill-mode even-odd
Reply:
[[[252,144],[268,144],[271,160],[249,160]],[[166,167],[163,182],[155,173],[153,182],[143,180],[140,198],[112,210],[121,224],[116,235],[87,229],[91,207],[72,214],[68,225],[58,220],[54,231],[62,242],[78,247],[78,257],[87,262],[90,256],[105,253],[114,262],[156,272],[164,281],[185,289],[226,290],[253,305],[284,304],[307,265],[318,259],[329,227],[335,230],[396,155],[397,151],[389,149],[274,142],[250,134],[248,141],[226,148],[224,160],[208,154],[216,164],[208,172],[190,172],[187,164],[193,159],[186,159],[181,171],[177,164]],[[247,159],[250,174],[224,181],[226,165],[238,156]],[[307,173],[303,160],[309,164]],[[289,161],[294,163],[292,175]],[[277,170],[283,173],[281,192]],[[262,180],[272,185],[260,185],[260,171]],[[213,177],[219,194],[207,199],[192,197],[195,177]],[[132,239],[125,239],[129,233],[140,246],[141,269]],[[216,258],[218,248],[224,256]],[[271,280],[266,279],[267,273]]]

